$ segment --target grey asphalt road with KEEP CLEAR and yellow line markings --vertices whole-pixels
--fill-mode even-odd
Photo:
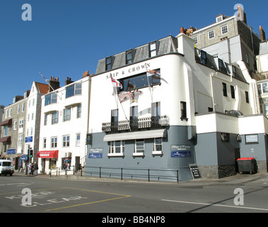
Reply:
[[[147,221],[167,222],[168,213],[267,213],[267,201],[267,173],[179,184],[67,180],[16,173],[0,177],[1,213],[98,213],[102,222],[121,224],[144,221],[146,217],[139,220],[144,214]],[[122,213],[131,218],[120,219]]]

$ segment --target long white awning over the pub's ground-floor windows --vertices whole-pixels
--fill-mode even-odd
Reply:
[[[163,137],[166,137],[166,129],[108,134],[105,135],[103,141],[109,142],[118,140],[137,140],[137,139],[163,138]]]

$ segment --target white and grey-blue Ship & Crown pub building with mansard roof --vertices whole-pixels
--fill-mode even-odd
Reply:
[[[147,70],[159,72],[166,82],[147,79]],[[111,77],[122,84],[119,96],[142,92],[138,101],[120,104]],[[102,174],[141,177],[151,169],[155,176],[165,170],[175,177],[177,171],[180,180],[192,178],[189,165],[194,163],[202,177],[235,174],[235,160],[250,147],[245,148],[246,135],[240,133],[250,132],[232,123],[242,119],[239,114],[244,126],[246,115],[260,111],[247,67],[227,65],[195,49],[194,39],[183,33],[99,60],[90,105],[92,143],[85,174],[98,175],[101,167]],[[266,137],[265,132],[254,131]],[[267,153],[264,143],[262,148],[260,153]],[[257,161],[266,165],[267,157]]]

